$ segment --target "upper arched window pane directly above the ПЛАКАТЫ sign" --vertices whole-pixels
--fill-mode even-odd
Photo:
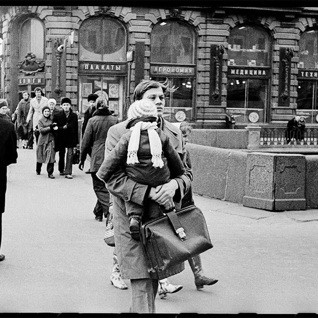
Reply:
[[[79,29],[79,59],[125,62],[125,28],[119,21],[109,17],[85,20]]]

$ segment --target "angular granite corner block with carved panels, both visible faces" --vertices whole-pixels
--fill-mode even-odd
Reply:
[[[270,211],[304,210],[305,173],[303,155],[249,153],[243,205]]]

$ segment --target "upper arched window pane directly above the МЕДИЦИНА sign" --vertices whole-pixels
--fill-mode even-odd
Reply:
[[[271,39],[258,26],[237,26],[228,38],[229,66],[269,66]]]

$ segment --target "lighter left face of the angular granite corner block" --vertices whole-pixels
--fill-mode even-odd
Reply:
[[[247,155],[243,205],[274,210],[275,163],[276,154],[251,152]]]

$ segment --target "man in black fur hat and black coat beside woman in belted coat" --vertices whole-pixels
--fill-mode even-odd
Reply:
[[[68,97],[61,99],[62,111],[53,116],[53,123],[57,124],[56,148],[59,151],[59,172],[60,176],[73,179],[73,149],[79,147],[78,119],[73,113],[71,100]],[[65,164],[65,152],[66,164]],[[65,169],[65,170],[64,170]]]

